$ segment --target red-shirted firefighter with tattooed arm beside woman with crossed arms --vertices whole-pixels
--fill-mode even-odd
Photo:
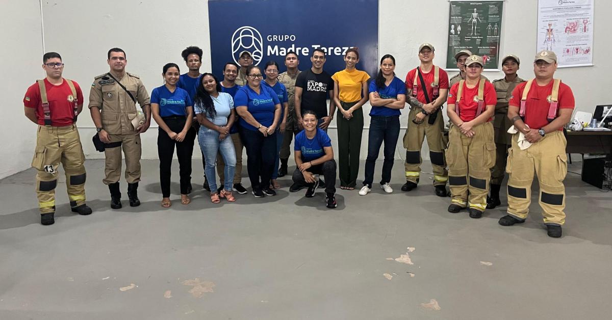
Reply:
[[[410,191],[419,183],[422,163],[420,151],[423,140],[427,136],[436,195],[446,196],[448,172],[444,161],[446,143],[442,141],[444,139],[444,118],[438,111],[446,102],[446,95],[449,92],[449,75],[446,71],[433,65],[434,56],[433,45],[430,43],[420,45],[420,66],[412,69],[406,75],[406,97],[412,107],[408,115],[408,129],[404,135],[406,184],[401,186],[401,190]],[[425,87],[422,82],[425,83]]]

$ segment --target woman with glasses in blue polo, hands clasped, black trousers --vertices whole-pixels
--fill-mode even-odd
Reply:
[[[234,96],[240,116],[239,132],[247,148],[247,171],[256,198],[274,196],[270,179],[274,169],[276,128],[280,121],[280,101],[269,87],[262,86],[263,75],[256,65],[247,68],[247,85]]]

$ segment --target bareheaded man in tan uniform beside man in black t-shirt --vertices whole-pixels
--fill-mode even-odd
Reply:
[[[297,69],[300,61],[297,57],[297,54],[293,51],[289,51],[285,54],[285,65],[287,67],[287,71],[278,75],[278,82],[282,83],[283,86],[287,89],[287,96],[289,99],[289,113],[287,114],[287,122],[285,126],[285,133],[283,136],[283,144],[280,147],[280,168],[278,168],[278,177],[284,177],[287,174],[287,163],[289,162],[289,155],[291,151],[289,150],[289,146],[291,146],[291,140],[293,140],[293,136],[297,135],[301,130],[297,125],[296,121],[296,79],[297,75],[300,74],[300,70]]]

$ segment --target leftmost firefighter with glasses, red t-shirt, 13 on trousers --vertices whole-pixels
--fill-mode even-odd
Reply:
[[[75,124],[83,92],[76,82],[62,78],[64,64],[58,53],[45,53],[42,59],[47,77],[28,87],[23,105],[26,117],[39,125],[32,167],[38,170],[40,223],[53,225],[60,162],[72,212],[88,215],[91,209],[85,204],[85,155]]]

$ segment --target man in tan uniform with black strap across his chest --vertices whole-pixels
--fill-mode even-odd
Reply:
[[[121,149],[125,154],[125,180],[130,206],[140,206],[138,181],[140,181],[140,133],[151,124],[151,102],[140,77],[125,72],[125,51],[112,48],[108,51],[110,72],[96,76],[89,92],[89,110],[100,141],[105,143],[106,163],[102,180],[111,193],[111,208],[121,208]],[[136,101],[144,111],[144,124],[135,127],[132,120],[138,116]]]

